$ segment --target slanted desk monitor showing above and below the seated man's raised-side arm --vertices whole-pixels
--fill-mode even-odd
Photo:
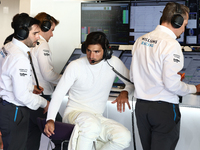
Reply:
[[[121,57],[121,61],[125,64],[126,68],[130,70],[131,61],[132,61],[132,51],[131,50],[124,50]],[[113,87],[125,87],[125,84],[116,77],[113,83]]]

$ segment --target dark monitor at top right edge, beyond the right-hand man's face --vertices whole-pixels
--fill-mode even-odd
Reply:
[[[186,1],[190,8],[189,20],[185,30],[186,45],[200,45],[200,2],[199,0]]]

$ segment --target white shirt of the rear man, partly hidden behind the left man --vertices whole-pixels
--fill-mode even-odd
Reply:
[[[51,95],[54,91],[54,85],[58,83],[61,75],[54,71],[52,53],[47,41],[40,36],[39,43],[31,49],[31,56],[39,85],[44,88],[43,93]],[[33,83],[36,84],[34,76]]]

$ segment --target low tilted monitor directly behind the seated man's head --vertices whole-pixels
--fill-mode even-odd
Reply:
[[[113,54],[116,57],[120,57],[122,54],[123,50],[113,50]],[[65,68],[67,67],[67,65],[73,61],[76,60],[78,58],[84,57],[86,56],[86,54],[83,54],[81,51],[81,48],[75,48],[74,51],[72,52],[71,56],[69,57],[69,59],[67,60],[66,64],[64,65],[63,69],[61,70],[60,74],[63,74],[65,71]]]

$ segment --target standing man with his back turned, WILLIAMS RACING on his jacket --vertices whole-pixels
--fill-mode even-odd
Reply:
[[[200,85],[181,81],[184,60],[176,40],[188,23],[189,8],[169,2],[161,25],[136,40],[130,70],[136,119],[144,150],[174,150],[179,139],[179,97],[200,92]]]

